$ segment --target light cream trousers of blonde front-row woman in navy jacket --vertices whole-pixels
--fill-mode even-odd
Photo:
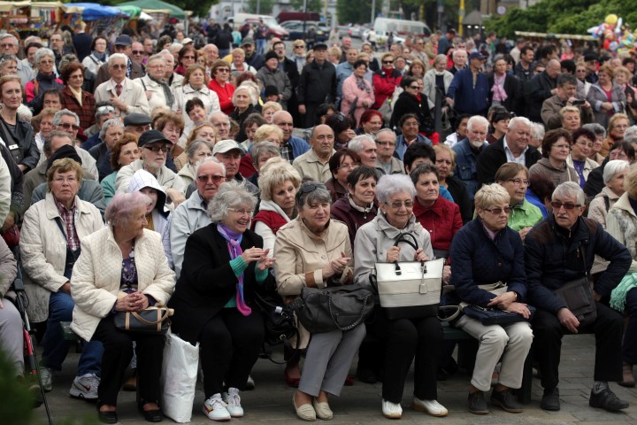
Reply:
[[[533,343],[533,330],[528,321],[510,325],[483,325],[464,315],[458,319],[456,327],[478,340],[478,354],[471,381],[475,388],[480,391],[491,389],[491,375],[501,357],[502,369],[498,383],[512,389],[522,386],[526,354]]]

